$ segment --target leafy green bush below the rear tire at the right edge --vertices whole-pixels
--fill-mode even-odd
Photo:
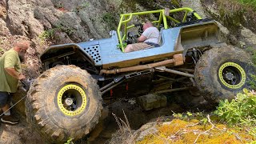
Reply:
[[[231,102],[228,100],[219,102],[217,110],[214,111],[229,125],[256,125],[256,93],[243,90],[238,93]]]

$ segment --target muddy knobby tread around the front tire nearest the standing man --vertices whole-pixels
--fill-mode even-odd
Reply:
[[[80,130],[66,130],[60,126],[58,126],[58,122],[54,122],[54,119],[50,118],[51,111],[46,110],[46,95],[44,95],[44,91],[46,90],[45,84],[50,81],[53,81],[52,78],[63,77],[63,74],[75,73],[79,75],[79,77],[86,78],[86,82],[92,90],[92,94],[90,96],[90,102],[94,102],[94,106],[90,106],[95,110],[93,116],[90,119],[87,118],[88,123],[85,126],[80,126]],[[71,75],[71,74],[70,74]],[[44,87],[45,86],[45,87]],[[49,88],[49,87],[48,87]],[[58,109],[58,108],[55,108]],[[36,130],[49,142],[66,142],[67,139],[74,138],[79,139],[88,134],[94,126],[98,123],[98,118],[101,115],[102,110],[102,97],[101,92],[99,91],[99,87],[97,85],[97,81],[94,80],[87,73],[86,70],[82,70],[77,66],[55,66],[50,70],[46,70],[43,74],[41,74],[38,79],[34,82],[34,84],[30,87],[30,90],[27,94],[26,98],[26,115],[27,121],[30,122]],[[85,115],[85,114],[84,114]],[[35,118],[36,117],[36,118]],[[81,121],[86,119],[85,116],[82,115]],[[65,124],[65,122],[63,122]],[[62,124],[62,125],[64,125]]]

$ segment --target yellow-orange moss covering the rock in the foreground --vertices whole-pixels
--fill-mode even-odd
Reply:
[[[147,135],[142,141],[136,142],[138,144],[145,143],[194,143],[198,138],[197,143],[246,143],[255,140],[246,129],[239,129],[234,126],[229,128],[223,124],[207,123],[206,126],[198,123],[198,120],[181,120],[174,119],[168,124],[158,126],[157,134]],[[202,134],[209,130],[206,134]],[[201,134],[198,137],[198,134]],[[241,139],[239,140],[238,137]]]

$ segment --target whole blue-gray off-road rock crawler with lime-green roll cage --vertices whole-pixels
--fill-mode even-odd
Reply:
[[[160,46],[124,53],[142,34],[142,18],[160,30]],[[66,142],[90,133],[103,101],[196,89],[210,102],[234,98],[254,71],[219,33],[216,22],[185,7],[121,14],[110,38],[50,46],[28,92],[27,120],[50,142]]]

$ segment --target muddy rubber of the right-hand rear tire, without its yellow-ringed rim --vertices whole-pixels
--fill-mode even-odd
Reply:
[[[198,60],[195,66],[194,79],[206,101],[218,103],[220,100],[233,99],[237,92],[248,86],[248,81],[250,80],[248,71],[246,71],[246,85],[242,86],[239,90],[227,90],[218,82],[219,66],[221,66],[223,62],[230,61],[246,63],[246,66],[242,66],[244,70],[247,69],[247,66],[249,66],[251,70],[254,69],[253,66],[250,66],[252,63],[250,55],[246,54],[244,50],[234,46],[207,50]]]

